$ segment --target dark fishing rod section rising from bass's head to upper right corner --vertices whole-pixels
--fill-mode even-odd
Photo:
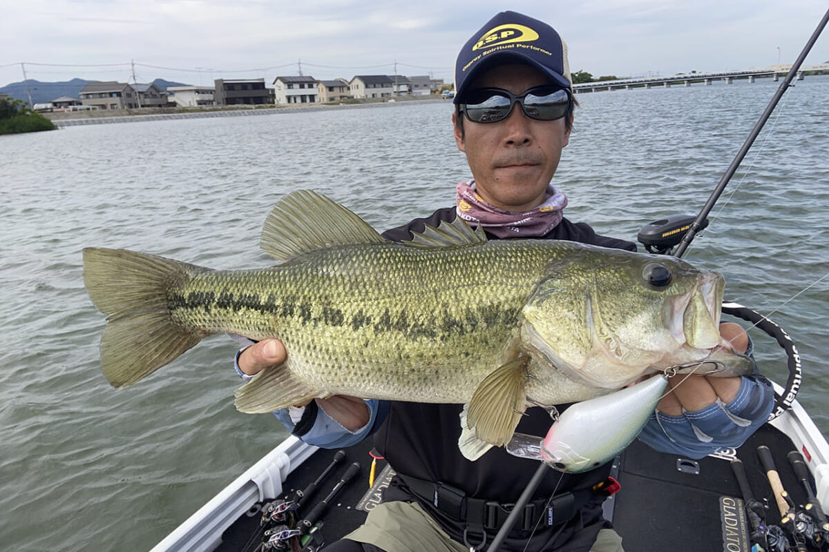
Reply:
[[[720,184],[717,185],[715,190],[711,193],[708,201],[705,203],[705,206],[700,211],[700,214],[696,216],[696,219],[693,223],[691,223],[691,228],[688,228],[688,231],[682,237],[682,241],[680,242],[679,246],[676,247],[676,252],[673,253],[674,257],[681,258],[682,254],[685,253],[686,249],[689,245],[691,245],[691,240],[694,239],[696,233],[704,228],[703,223],[705,222],[708,214],[711,212],[711,209],[714,209],[714,204],[717,202],[717,199],[720,199],[720,195],[722,195],[723,191],[725,190],[725,186],[728,185],[729,180],[734,175],[734,172],[737,171],[739,164],[743,162],[745,155],[749,152],[752,144],[754,144],[754,140],[757,139],[761,130],[768,121],[768,118],[771,116],[774,108],[777,107],[780,98],[783,97],[783,93],[786,92],[789,85],[792,83],[797,71],[800,70],[800,66],[803,63],[803,60],[806,59],[806,56],[809,53],[809,50],[812,50],[812,46],[814,46],[815,42],[817,41],[817,37],[821,36],[823,31],[823,27],[827,25],[829,22],[829,10],[823,15],[823,18],[820,23],[817,24],[817,28],[812,33],[812,36],[807,41],[806,46],[803,47],[802,52],[800,55],[797,56],[797,60],[792,65],[792,68],[788,71],[786,78],[783,79],[783,84],[780,84],[777,92],[774,94],[771,101],[768,103],[768,107],[763,112],[763,115],[760,116],[759,121],[754,125],[754,128],[751,130],[749,137],[746,138],[745,143],[739,151],[737,152],[737,156],[734,157],[734,161],[731,161],[731,165],[729,166],[728,170],[725,171],[725,175],[720,179]]]

